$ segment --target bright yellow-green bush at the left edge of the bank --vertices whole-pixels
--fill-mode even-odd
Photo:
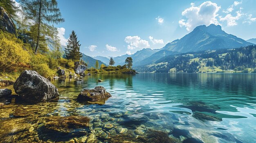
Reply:
[[[30,55],[15,35],[0,30],[0,71],[19,71],[29,68]]]

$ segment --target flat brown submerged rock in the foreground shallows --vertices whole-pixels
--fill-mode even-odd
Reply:
[[[89,126],[90,118],[83,116],[70,117],[49,117],[45,123],[45,128],[58,132],[70,132],[71,129],[84,128]]]

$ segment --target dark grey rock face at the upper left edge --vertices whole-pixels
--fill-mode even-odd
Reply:
[[[12,34],[16,34],[14,24],[3,7],[0,7],[0,29]]]

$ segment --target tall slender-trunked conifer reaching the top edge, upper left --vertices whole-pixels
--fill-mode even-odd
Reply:
[[[20,0],[22,10],[25,12],[25,17],[28,20],[28,25],[32,23],[36,24],[36,49],[37,53],[40,45],[40,36],[44,32],[51,32],[52,34],[45,34],[45,38],[51,37],[55,39],[58,34],[56,28],[51,24],[58,24],[64,22],[61,18],[61,12],[58,8],[58,2],[56,0]],[[54,29],[54,30],[53,30]]]

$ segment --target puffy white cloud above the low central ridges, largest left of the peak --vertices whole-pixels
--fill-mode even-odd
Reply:
[[[150,45],[148,44],[148,41],[142,40],[139,36],[127,36],[127,37],[125,37],[124,41],[129,44],[127,46],[127,48],[129,50],[132,50],[135,48],[149,48],[150,47]]]

